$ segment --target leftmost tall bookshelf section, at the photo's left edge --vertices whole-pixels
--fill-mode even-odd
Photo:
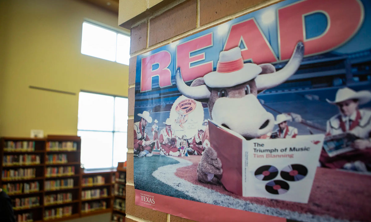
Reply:
[[[0,187],[12,199],[16,219],[43,219],[45,143],[39,138],[0,139]]]

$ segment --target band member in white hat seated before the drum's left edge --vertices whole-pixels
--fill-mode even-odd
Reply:
[[[161,155],[171,155],[174,157],[179,156],[179,151],[177,148],[177,139],[171,130],[171,120],[167,118],[164,122],[165,128],[160,132],[160,154]]]

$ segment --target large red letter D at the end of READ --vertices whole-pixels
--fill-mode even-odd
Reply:
[[[305,39],[304,16],[324,13],[328,27],[321,36]],[[306,0],[278,9],[280,60],[287,60],[298,41],[303,41],[304,55],[331,51],[349,40],[363,21],[363,6],[358,0]]]

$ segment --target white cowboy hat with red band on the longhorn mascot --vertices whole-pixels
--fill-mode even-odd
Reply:
[[[257,77],[262,68],[254,63],[243,63],[241,48],[221,51],[216,71],[204,76],[205,84],[211,88],[232,87]]]

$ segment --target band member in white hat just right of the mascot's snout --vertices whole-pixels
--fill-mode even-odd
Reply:
[[[275,124],[278,125],[278,129],[274,131],[271,138],[295,138],[298,135],[298,129],[290,127],[287,121],[291,121],[292,117],[286,114],[278,114],[276,117]]]

